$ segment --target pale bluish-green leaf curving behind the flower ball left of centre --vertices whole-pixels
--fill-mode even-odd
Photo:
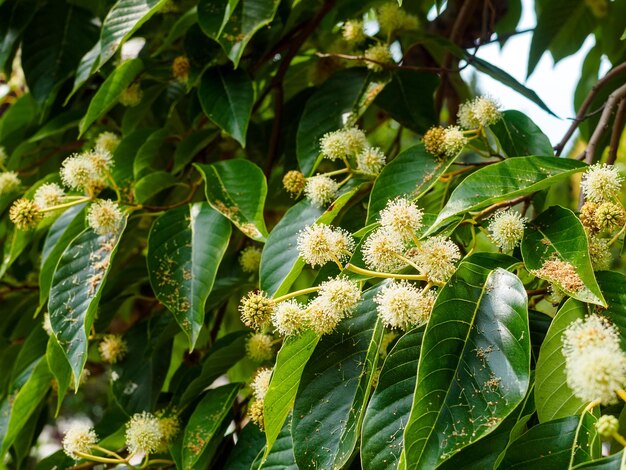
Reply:
[[[347,190],[326,211],[304,199],[285,213],[263,248],[259,280],[262,290],[273,296],[287,293],[304,267],[296,246],[300,230],[314,223],[330,224],[358,189]]]

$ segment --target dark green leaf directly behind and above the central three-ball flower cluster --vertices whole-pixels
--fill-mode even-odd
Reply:
[[[435,160],[421,143],[401,152],[383,168],[374,182],[367,208],[367,223],[376,221],[388,201],[398,196],[417,199],[425,194],[453,161],[453,158],[445,162]]]

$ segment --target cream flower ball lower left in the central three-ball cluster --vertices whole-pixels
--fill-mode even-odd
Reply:
[[[393,272],[406,266],[398,257],[404,251],[404,241],[398,232],[381,227],[373,231],[363,242],[363,261],[368,268]]]

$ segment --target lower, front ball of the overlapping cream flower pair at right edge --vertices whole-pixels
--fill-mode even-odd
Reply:
[[[589,347],[584,354],[566,356],[567,385],[585,403],[617,403],[617,390],[626,386],[626,356],[615,347]]]

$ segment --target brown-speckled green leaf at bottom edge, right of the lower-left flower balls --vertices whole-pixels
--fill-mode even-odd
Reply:
[[[237,398],[239,384],[209,390],[198,403],[183,438],[183,468],[197,468],[196,462],[214,437]]]

